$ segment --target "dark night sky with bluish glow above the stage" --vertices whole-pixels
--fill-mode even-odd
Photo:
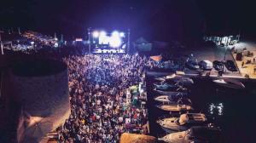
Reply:
[[[1,0],[0,28],[84,37],[87,27],[131,28],[134,37],[169,41],[241,31],[255,36],[254,5],[237,0]]]

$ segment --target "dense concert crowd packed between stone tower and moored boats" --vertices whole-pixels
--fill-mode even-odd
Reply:
[[[71,116],[59,130],[60,142],[119,142],[124,132],[147,134],[143,93],[154,62],[137,54],[85,54],[63,58],[69,69]]]

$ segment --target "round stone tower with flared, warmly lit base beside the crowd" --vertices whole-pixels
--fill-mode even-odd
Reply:
[[[18,142],[39,142],[49,131],[65,123],[70,115],[67,66],[53,60],[22,64],[9,70],[9,81],[6,81],[9,84],[5,89],[20,106],[20,117],[16,123]],[[39,72],[42,73],[37,74]]]

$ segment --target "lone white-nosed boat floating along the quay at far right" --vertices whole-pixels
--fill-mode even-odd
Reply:
[[[219,86],[223,86],[223,87],[231,88],[231,89],[244,89],[245,88],[243,83],[241,83],[237,80],[228,79],[228,78],[216,79],[216,80],[213,80],[213,83],[217,83]]]

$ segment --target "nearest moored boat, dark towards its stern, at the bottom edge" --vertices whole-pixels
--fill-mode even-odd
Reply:
[[[186,131],[166,134],[158,140],[169,143],[224,142],[221,130],[212,126],[194,126]]]

